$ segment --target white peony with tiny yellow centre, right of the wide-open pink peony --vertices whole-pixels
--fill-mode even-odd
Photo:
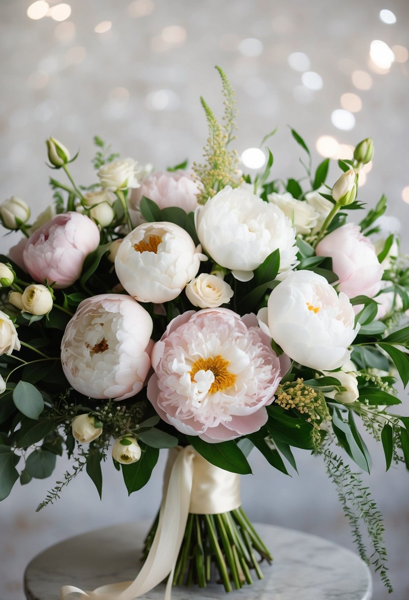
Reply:
[[[356,337],[355,313],[346,294],[339,296],[324,277],[294,271],[270,293],[258,312],[260,326],[285,354],[305,367],[332,371],[350,358]]]

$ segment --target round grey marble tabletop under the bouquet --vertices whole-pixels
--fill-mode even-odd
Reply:
[[[29,563],[25,572],[28,600],[58,600],[62,585],[84,590],[133,579],[139,569],[143,521],[106,527],[56,544]],[[368,567],[350,550],[323,538],[270,525],[256,526],[272,550],[272,566],[263,565],[264,579],[231,592],[226,600],[369,600]],[[164,584],[142,596],[163,600]],[[224,598],[220,585],[205,590],[176,587],[173,600]]]

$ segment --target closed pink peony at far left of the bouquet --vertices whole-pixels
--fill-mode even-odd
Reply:
[[[78,212],[56,215],[29,237],[23,252],[26,269],[35,281],[71,286],[99,244],[100,232],[90,218]]]

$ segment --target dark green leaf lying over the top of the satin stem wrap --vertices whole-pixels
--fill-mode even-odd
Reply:
[[[186,437],[193,448],[216,467],[232,473],[240,473],[240,475],[251,473],[251,467],[245,455],[234,440],[209,444],[201,440],[199,436]]]

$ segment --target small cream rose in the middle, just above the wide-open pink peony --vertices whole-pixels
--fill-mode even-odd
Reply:
[[[186,287],[186,295],[193,306],[199,308],[216,308],[227,304],[233,296],[233,290],[219,277],[201,273]]]

